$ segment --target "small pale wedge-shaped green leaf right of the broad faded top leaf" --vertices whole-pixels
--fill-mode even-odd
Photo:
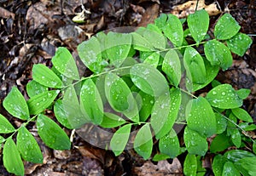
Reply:
[[[132,32],[132,46],[139,51],[154,51],[154,46],[137,32]]]

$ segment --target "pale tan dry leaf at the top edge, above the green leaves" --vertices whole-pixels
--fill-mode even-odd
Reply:
[[[194,1],[188,1],[186,3],[174,6],[171,14],[176,15],[178,18],[185,18],[189,14],[195,13],[196,3],[197,1],[194,0]],[[211,16],[221,13],[217,7],[218,7],[217,3],[211,3],[209,5],[206,5],[205,0],[199,0],[197,4],[197,10],[205,9],[207,10],[207,13]]]

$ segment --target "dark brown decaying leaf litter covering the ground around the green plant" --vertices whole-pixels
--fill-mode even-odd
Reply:
[[[17,85],[26,98],[25,88],[32,79],[32,65],[50,65],[55,49],[67,47],[74,57],[78,57],[77,45],[90,38],[97,31],[119,26],[146,26],[161,13],[177,14],[178,17],[193,13],[195,7],[207,9],[212,15],[211,30],[219,14],[230,12],[241,25],[241,31],[255,35],[255,2],[251,1],[6,1],[0,2],[0,99],[1,104],[12,86]],[[80,23],[81,22],[81,23]],[[255,37],[253,44],[243,57],[234,55],[232,68],[218,74],[218,81],[231,83],[234,88],[251,88],[252,93],[245,100],[244,107],[254,120],[256,118],[256,55]],[[89,75],[90,71],[84,74]],[[206,90],[207,91],[207,90]],[[198,93],[198,94],[204,94]],[[212,92],[213,94],[213,92]],[[213,99],[214,100],[214,99]],[[1,114],[20,127],[18,119],[0,108]],[[48,111],[49,116],[54,116]],[[34,124],[30,131],[37,136]],[[90,127],[84,131],[90,130]],[[88,145],[78,135],[66,130],[73,137],[73,150],[49,150],[42,141],[38,144],[44,153],[44,164],[26,163],[26,174],[44,175],[172,175],[182,173],[183,158],[173,161],[153,163],[143,161],[129,150],[119,157],[111,151],[99,150]],[[255,136],[255,134],[250,134]],[[210,159],[210,158],[208,158]],[[170,164],[170,163],[172,164]],[[207,164],[207,158],[203,161]],[[156,170],[158,172],[156,172]],[[3,163],[0,173],[9,175]]]

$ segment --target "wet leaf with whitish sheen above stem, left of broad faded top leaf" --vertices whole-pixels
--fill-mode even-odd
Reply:
[[[84,65],[93,72],[102,71],[102,45],[96,37],[80,43],[78,46],[79,58]]]

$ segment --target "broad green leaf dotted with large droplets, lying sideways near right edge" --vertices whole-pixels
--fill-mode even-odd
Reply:
[[[242,99],[239,98],[230,84],[222,84],[212,88],[206,99],[213,107],[221,109],[233,109],[242,105]]]

